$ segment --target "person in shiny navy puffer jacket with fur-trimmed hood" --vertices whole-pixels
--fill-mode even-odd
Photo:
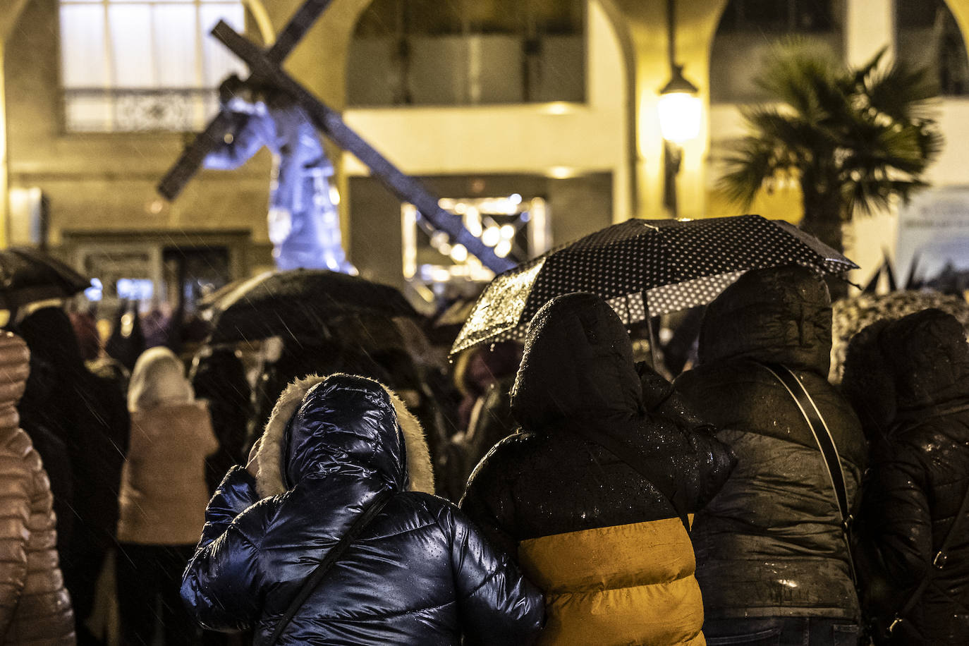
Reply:
[[[182,599],[203,626],[268,643],[313,565],[381,500],[276,643],[531,643],[541,595],[433,488],[421,426],[391,390],[345,374],[298,380],[248,468],[209,502]]]

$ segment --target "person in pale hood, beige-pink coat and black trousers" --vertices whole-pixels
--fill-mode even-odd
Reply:
[[[197,631],[178,595],[204,522],[205,458],[218,443],[181,360],[163,346],[135,363],[128,410],[131,437],[118,494],[115,560],[122,639],[152,643],[161,603],[165,643],[194,643]]]

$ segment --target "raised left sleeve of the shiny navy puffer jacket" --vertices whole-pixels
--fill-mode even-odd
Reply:
[[[258,501],[255,484],[242,467],[229,471],[205,508],[202,539],[182,575],[182,600],[210,630],[244,630],[259,616],[259,544],[278,501]]]

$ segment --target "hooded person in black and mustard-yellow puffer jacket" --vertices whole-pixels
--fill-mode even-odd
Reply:
[[[600,297],[549,301],[511,395],[520,427],[461,500],[546,595],[543,644],[703,644],[689,518],[727,478],[713,430],[637,365]]]

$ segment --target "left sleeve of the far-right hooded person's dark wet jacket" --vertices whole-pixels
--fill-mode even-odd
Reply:
[[[891,582],[918,585],[932,560],[932,521],[925,469],[914,450],[882,446],[865,482],[862,515]]]

